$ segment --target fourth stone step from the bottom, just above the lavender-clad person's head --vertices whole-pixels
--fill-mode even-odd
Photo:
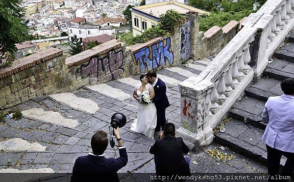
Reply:
[[[268,64],[265,75],[280,81],[287,78],[294,78],[294,62],[274,59]]]

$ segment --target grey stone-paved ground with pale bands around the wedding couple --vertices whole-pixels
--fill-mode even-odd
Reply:
[[[176,127],[180,126],[177,84],[199,74],[209,61],[188,61],[185,65],[157,72],[158,77],[167,84],[171,103],[166,111],[167,119]],[[72,172],[75,159],[91,151],[93,133],[104,130],[109,134],[110,118],[115,112],[122,112],[127,117],[121,135],[127,148],[128,163],[119,172],[155,172],[153,156],[149,154],[154,140],[130,130],[131,123],[137,117],[137,102],[132,98],[132,93],[138,80],[139,75],[86,86],[71,93],[42,96],[17,105],[23,119],[6,118],[6,123],[0,125],[0,172]],[[206,150],[215,145],[210,145]],[[236,165],[216,161],[206,150],[189,154],[193,172],[250,171],[245,165],[249,162],[246,158],[237,157],[245,162],[236,168]],[[114,157],[115,153],[117,157],[118,150],[108,146],[105,156]],[[259,166],[258,170],[264,171],[265,168]],[[125,181],[129,181],[129,178],[132,176]]]

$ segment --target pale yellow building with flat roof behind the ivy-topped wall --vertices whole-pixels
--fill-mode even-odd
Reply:
[[[189,11],[198,12],[199,15],[209,14],[208,11],[173,0],[133,7],[131,9],[133,36],[141,35],[148,28],[156,25],[160,15],[165,14],[169,9],[173,9],[183,15]]]

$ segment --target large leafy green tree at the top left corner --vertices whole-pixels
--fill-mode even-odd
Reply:
[[[29,27],[24,19],[23,0],[0,0],[0,55],[10,55],[7,61],[14,59],[17,51],[16,43],[22,43],[31,37]],[[12,56],[12,57],[11,57]]]

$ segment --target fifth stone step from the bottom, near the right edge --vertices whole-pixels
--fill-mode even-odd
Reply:
[[[284,43],[284,45],[274,53],[278,59],[294,62],[294,43]]]

